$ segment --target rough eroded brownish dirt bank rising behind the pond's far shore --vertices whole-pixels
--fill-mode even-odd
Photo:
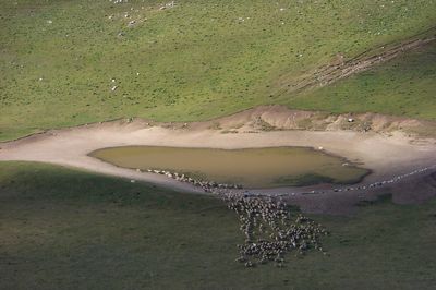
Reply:
[[[391,135],[400,131],[414,137],[436,137],[436,123],[380,113],[334,114],[320,111],[291,110],[284,106],[259,106],[207,122],[157,123],[165,128],[217,130],[221,133],[262,131],[354,131]]]

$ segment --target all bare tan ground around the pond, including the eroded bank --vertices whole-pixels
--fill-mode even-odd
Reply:
[[[371,169],[373,173],[366,177],[362,184],[386,180],[416,168],[436,164],[435,138],[417,138],[409,133],[398,131],[400,130],[399,126],[404,126],[407,123],[416,125],[421,121],[405,119],[392,121],[389,119],[390,117],[375,116],[376,118],[368,118],[370,114],[361,114],[354,116],[353,121],[349,122],[349,116],[325,116],[324,119],[317,119],[319,122],[327,123],[323,130],[290,130],[300,129],[294,126],[295,122],[292,120],[302,120],[301,118],[315,120],[316,116],[318,116],[316,112],[291,111],[272,106],[247,110],[232,117],[204,123],[152,124],[144,120],[120,120],[53,130],[14,142],[1,143],[0,160],[50,162],[197,193],[202,191],[187,183],[181,183],[165,176],[118,168],[92,158],[87,154],[98,148],[125,145],[211,148],[308,146],[319,149],[322,147],[323,150],[346,157],[350,161],[359,162]],[[361,118],[368,118],[373,122],[371,130],[361,130],[361,126],[354,125],[360,122]],[[374,125],[374,120],[379,119],[383,122],[388,122],[390,126],[379,123]],[[341,123],[349,126],[343,128],[340,125]],[[435,129],[434,123],[427,122],[424,125],[427,130]],[[422,125],[417,128],[422,128]],[[431,173],[427,172],[427,174]],[[415,184],[423,182],[423,178],[425,177],[420,174],[402,182]],[[432,182],[433,179],[431,182],[427,180],[426,184],[433,184]],[[389,191],[401,188],[400,184],[389,185]],[[385,188],[365,192],[304,194],[319,189],[331,189],[331,185],[284,188],[274,191],[265,190],[264,192],[292,192],[294,195],[289,196],[289,201],[300,204],[306,212],[348,213],[352,210],[351,204],[355,201],[366,197],[373,198],[374,194],[387,190]],[[417,192],[416,189],[411,189],[410,194],[415,194],[415,192]],[[433,185],[426,188],[425,192],[426,197],[436,195],[436,189]],[[412,198],[404,192],[400,194],[399,196],[402,197],[398,198],[402,202],[417,198]],[[328,206],[329,204],[331,206]]]

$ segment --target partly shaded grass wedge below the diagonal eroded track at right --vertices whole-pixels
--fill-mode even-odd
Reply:
[[[436,119],[436,43],[330,86],[284,96],[299,109]]]

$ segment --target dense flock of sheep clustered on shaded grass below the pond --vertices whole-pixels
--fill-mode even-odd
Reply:
[[[298,254],[312,249],[323,252],[320,237],[327,231],[302,215],[292,220],[289,208],[280,200],[232,193],[221,196],[239,216],[245,243],[238,245],[237,262],[246,267],[268,262],[283,267],[284,256],[291,251]]]

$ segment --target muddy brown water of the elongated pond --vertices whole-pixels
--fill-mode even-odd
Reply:
[[[125,168],[160,169],[245,188],[354,183],[367,170],[305,147],[245,149],[126,146],[90,156]]]

